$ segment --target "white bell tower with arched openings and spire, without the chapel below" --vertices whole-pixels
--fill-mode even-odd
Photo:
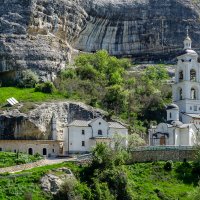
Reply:
[[[191,44],[187,29],[183,52],[177,57],[175,84],[172,86],[173,102],[178,105],[180,114],[200,114],[200,64]]]

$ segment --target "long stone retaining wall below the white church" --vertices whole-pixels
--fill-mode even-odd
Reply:
[[[151,162],[151,161],[191,161],[194,159],[195,150],[141,150],[131,152],[131,162]]]

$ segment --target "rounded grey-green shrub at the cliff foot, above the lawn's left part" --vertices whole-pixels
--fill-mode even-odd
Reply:
[[[17,86],[20,88],[33,88],[39,82],[38,75],[30,69],[24,70],[17,80]]]

